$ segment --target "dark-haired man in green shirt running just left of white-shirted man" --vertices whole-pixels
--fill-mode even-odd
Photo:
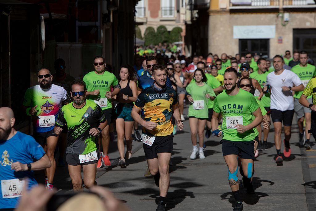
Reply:
[[[256,79],[258,83],[260,84],[261,88],[263,88],[267,81],[267,75],[269,74],[266,68],[266,60],[264,58],[258,59],[257,65],[258,65],[258,71],[251,73],[250,78]],[[255,98],[258,99],[258,97],[256,96]],[[270,93],[269,92],[265,93],[262,96],[261,104],[262,106],[264,106],[264,109],[267,111],[267,121],[270,121]],[[268,148],[267,139],[268,139],[270,128],[263,129],[263,143],[261,142],[261,132],[262,132],[261,125],[258,125],[257,130],[259,133],[258,149],[266,150]]]

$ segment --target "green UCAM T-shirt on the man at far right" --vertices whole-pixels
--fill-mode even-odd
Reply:
[[[298,75],[304,87],[306,87],[308,81],[316,75],[315,66],[310,64],[307,64],[306,67],[301,67],[300,64],[295,65],[294,67],[292,67],[291,71]],[[302,93],[303,91],[296,91],[294,97],[299,99]],[[307,98],[311,97],[312,96],[307,96]]]

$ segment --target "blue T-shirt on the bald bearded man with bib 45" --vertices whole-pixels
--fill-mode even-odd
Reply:
[[[33,163],[45,155],[44,149],[32,136],[17,132],[9,140],[0,140],[0,180],[28,177],[28,188],[37,185],[33,171],[18,171],[11,169],[11,164],[19,161],[23,164]],[[1,183],[0,183],[1,190]],[[0,195],[0,209],[17,207],[20,197],[2,198]]]

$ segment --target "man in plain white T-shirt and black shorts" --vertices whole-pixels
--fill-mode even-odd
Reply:
[[[284,126],[284,157],[288,158],[291,155],[290,138],[291,126],[294,114],[294,102],[292,91],[304,90],[301,79],[292,71],[283,69],[284,60],[282,56],[276,55],[273,57],[274,72],[270,72],[267,76],[266,84],[263,91],[270,89],[271,92],[271,118],[275,128],[274,142],[276,145],[276,163],[283,164],[281,155],[281,132],[282,121]],[[293,86],[295,84],[295,86]]]

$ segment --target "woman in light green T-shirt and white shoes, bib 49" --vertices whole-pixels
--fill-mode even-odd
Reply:
[[[191,141],[193,145],[191,159],[196,159],[199,154],[200,159],[204,159],[203,142],[204,128],[208,118],[207,103],[215,99],[213,89],[206,83],[207,78],[202,69],[198,68],[194,71],[195,82],[186,87],[188,100],[191,102],[189,106],[189,124],[191,129]],[[197,134],[199,137],[199,150],[197,149]]]

